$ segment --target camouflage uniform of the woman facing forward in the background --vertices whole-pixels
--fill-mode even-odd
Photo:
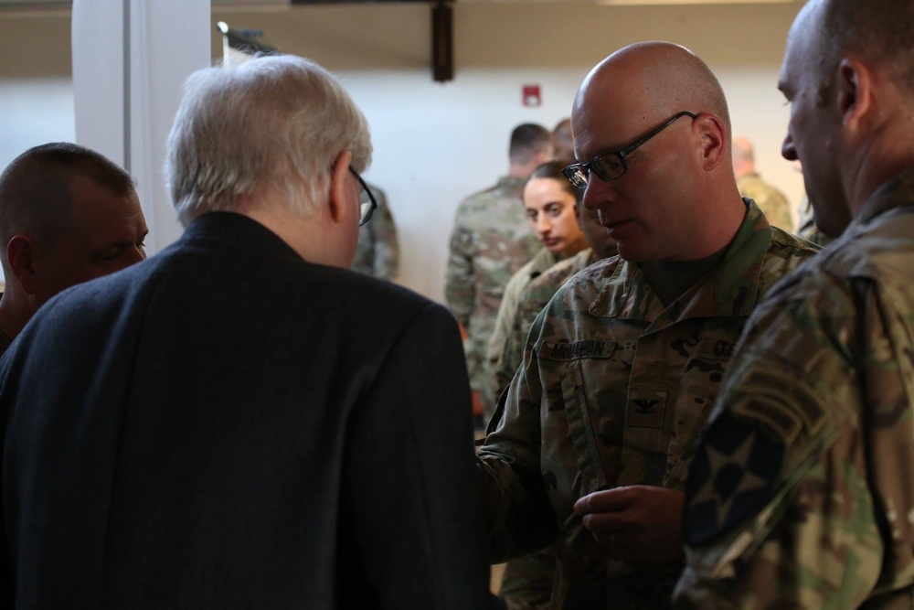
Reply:
[[[503,356],[505,354],[505,345],[511,338],[514,330],[515,319],[518,315],[518,306],[520,305],[520,295],[532,280],[535,280],[540,273],[547,271],[550,267],[558,262],[558,256],[548,251],[546,248],[540,248],[530,262],[527,262],[520,270],[511,276],[508,283],[505,284],[505,294],[502,296],[502,304],[498,307],[498,316],[495,317],[495,329],[492,337],[489,338],[489,345],[486,352],[486,360],[489,367],[489,382],[494,384],[492,395],[495,400],[501,396],[502,391],[508,387],[511,378],[514,377],[514,371],[520,364],[520,359],[514,361],[514,369],[511,371],[511,377],[504,380],[504,377],[497,375],[500,369],[505,367]],[[538,314],[539,312],[537,312]],[[534,314],[533,317],[537,317]],[[526,338],[526,337],[525,337]],[[504,380],[504,383],[502,382]],[[492,418],[495,411],[495,401],[488,402],[484,406],[485,421]]]

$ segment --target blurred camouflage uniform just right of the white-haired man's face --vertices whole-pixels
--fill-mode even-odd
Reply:
[[[382,280],[393,281],[399,273],[399,241],[388,198],[380,188],[368,185],[377,201],[371,219],[358,228],[356,258],[351,269]]]

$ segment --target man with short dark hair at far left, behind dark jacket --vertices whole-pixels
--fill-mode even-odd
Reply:
[[[50,297],[142,261],[133,178],[78,144],[28,149],[0,175],[0,354]]]

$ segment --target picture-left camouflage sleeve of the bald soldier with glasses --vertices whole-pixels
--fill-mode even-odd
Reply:
[[[524,366],[498,402],[501,421],[477,454],[492,562],[555,541],[558,526],[539,468],[540,394],[536,355],[528,346]]]

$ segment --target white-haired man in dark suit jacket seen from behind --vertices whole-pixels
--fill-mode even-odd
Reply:
[[[346,270],[362,113],[311,61],[249,59],[187,80],[167,149],[181,239],[0,366],[0,601],[485,605],[458,327]]]

